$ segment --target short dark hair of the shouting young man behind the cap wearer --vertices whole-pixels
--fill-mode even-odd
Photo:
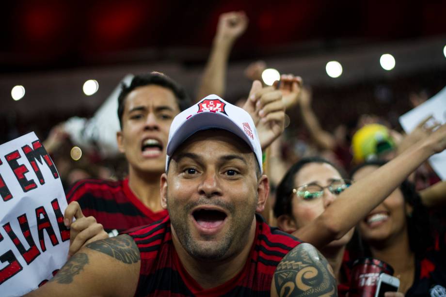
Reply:
[[[187,109],[191,106],[191,99],[186,94],[186,91],[177,84],[172,78],[160,72],[150,72],[145,74],[136,75],[133,77],[129,85],[122,83],[121,93],[118,96],[118,119],[119,125],[122,128],[122,115],[124,113],[124,106],[126,104],[127,95],[138,87],[158,85],[166,89],[171,90],[176,98],[176,103],[180,111]]]

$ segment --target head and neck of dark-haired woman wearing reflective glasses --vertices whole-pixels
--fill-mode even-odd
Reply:
[[[274,205],[279,228],[313,244],[327,258],[340,284],[339,293],[348,290],[350,273],[341,266],[354,223],[347,223],[341,234],[336,230],[339,227],[330,225],[322,214],[350,187],[351,181],[345,177],[343,170],[323,158],[303,158],[282,179]]]

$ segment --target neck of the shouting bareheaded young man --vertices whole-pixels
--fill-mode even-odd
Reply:
[[[128,170],[128,187],[145,206],[154,212],[162,210],[160,176],[161,172],[137,172],[131,167]]]

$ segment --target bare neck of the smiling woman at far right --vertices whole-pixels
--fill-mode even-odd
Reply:
[[[370,251],[374,258],[390,264],[395,270],[395,275],[414,268],[414,252],[409,246],[407,228],[404,232],[400,232],[398,236],[394,236],[385,242],[372,243]]]

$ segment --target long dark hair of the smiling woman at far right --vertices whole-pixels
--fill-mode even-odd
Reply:
[[[385,163],[386,161],[382,160],[367,161],[353,168],[352,171],[350,172],[350,176],[352,177],[355,172],[357,172],[363,167],[366,166],[381,167]],[[404,180],[399,186],[399,189],[403,194],[404,201],[406,203],[409,203],[409,205],[413,207],[412,214],[406,214],[410,249],[415,254],[422,254],[429,247],[431,247],[433,243],[428,210],[421,203],[420,196],[418,195],[418,192],[415,190],[415,186],[412,182],[408,181],[407,179]],[[356,257],[371,256],[370,249],[364,240],[352,239],[352,243],[354,242],[359,242],[360,244],[359,246],[355,246],[353,244],[350,245],[350,253],[353,256]],[[358,254],[356,255],[357,252]]]

